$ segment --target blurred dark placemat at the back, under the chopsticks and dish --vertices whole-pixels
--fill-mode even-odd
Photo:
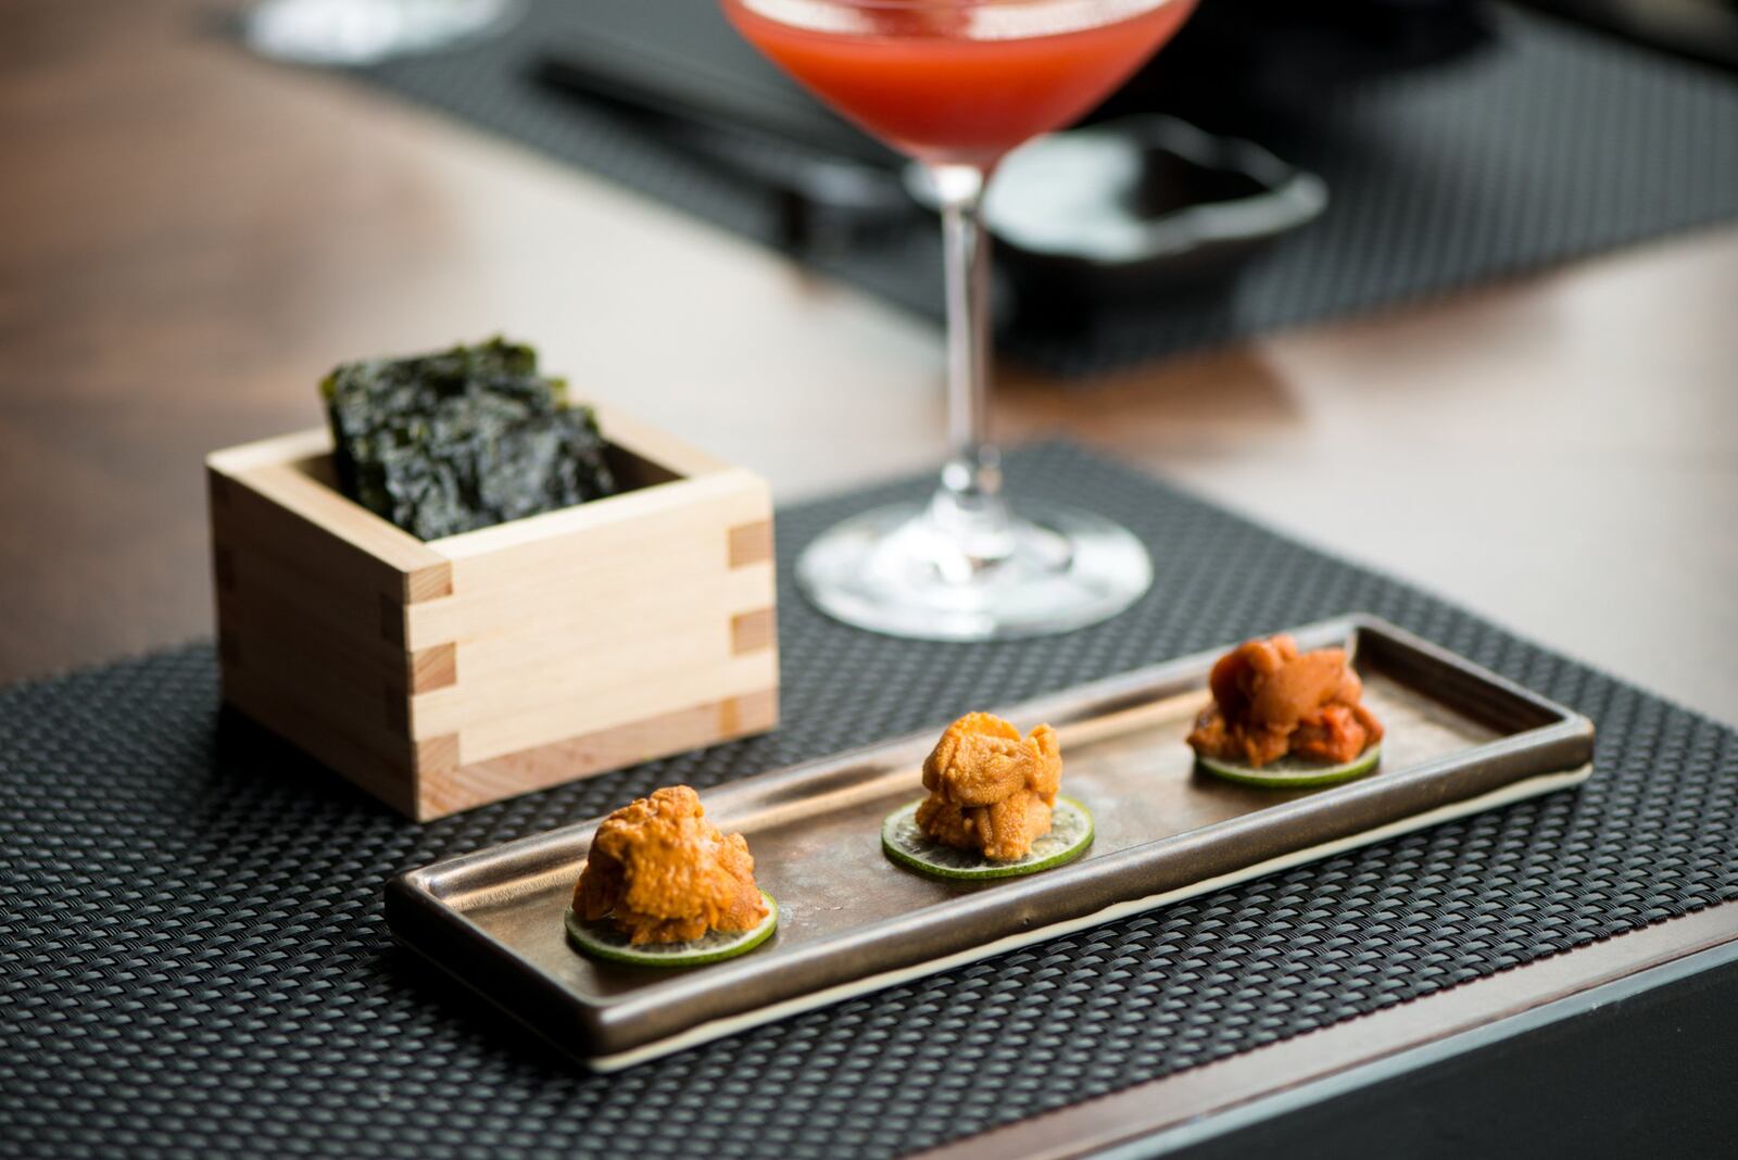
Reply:
[[[504,38],[362,75],[728,229],[777,238],[780,203],[765,188],[534,83],[530,64],[584,36],[584,19],[572,0],[539,0]],[[1090,375],[1738,215],[1738,78],[1507,9],[1496,24],[1496,43],[1481,54],[1300,94],[1284,122],[1244,123],[1208,97],[1191,115],[1326,177],[1328,214],[1224,292],[1065,325],[1048,309],[1005,311],[1003,349],[1041,370]],[[812,260],[940,316],[928,224]]]

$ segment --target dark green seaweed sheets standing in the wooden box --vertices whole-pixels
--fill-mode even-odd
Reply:
[[[320,392],[344,495],[422,540],[615,491],[596,417],[528,346],[344,363]]]

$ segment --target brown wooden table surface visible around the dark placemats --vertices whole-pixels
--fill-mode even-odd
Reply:
[[[247,59],[200,31],[210,12],[0,0],[0,679],[205,636],[202,455],[318,422],[315,382],[346,356],[506,328],[784,500],[939,460],[932,325],[513,144]],[[999,422],[1163,471],[1731,721],[1735,302],[1724,227],[1090,391],[1008,373]],[[1293,1080],[1302,1061],[1328,1075],[1337,1051],[1599,995],[1729,950],[1735,910],[1272,1052],[1297,1056]],[[1164,1099],[1270,1091],[1272,1052],[1173,1077]],[[1163,1127],[1152,1108],[1100,1106],[1091,1130]],[[1067,1150],[1086,1122],[1048,1124],[1003,1146]]]

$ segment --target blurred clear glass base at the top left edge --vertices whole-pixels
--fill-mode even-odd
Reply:
[[[273,61],[372,64],[497,31],[523,10],[523,0],[261,0],[243,36]]]

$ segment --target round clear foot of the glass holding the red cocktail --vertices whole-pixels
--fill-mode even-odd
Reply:
[[[1102,516],[1015,504],[1012,517],[994,523],[991,537],[959,535],[944,497],[879,507],[803,549],[796,580],[845,623],[923,641],[1069,632],[1114,616],[1152,587],[1147,549]]]

